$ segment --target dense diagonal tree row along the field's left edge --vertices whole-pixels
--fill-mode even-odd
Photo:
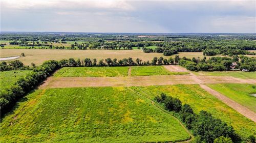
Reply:
[[[1,90],[1,115],[9,111],[15,105],[18,99],[25,96],[58,68],[59,64],[57,61],[46,61],[41,66],[34,68],[33,73],[19,78],[17,82],[10,88]]]

